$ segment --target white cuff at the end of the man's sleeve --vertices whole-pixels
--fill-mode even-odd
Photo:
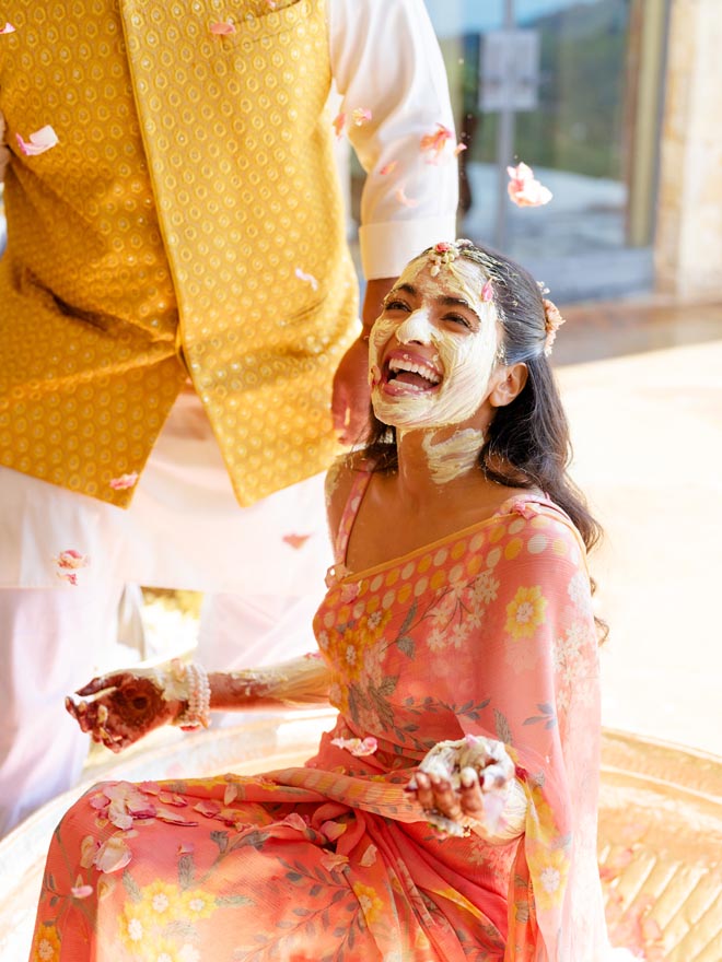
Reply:
[[[456,237],[454,216],[388,221],[359,227],[361,266],[366,280],[397,278],[409,260],[439,241]]]

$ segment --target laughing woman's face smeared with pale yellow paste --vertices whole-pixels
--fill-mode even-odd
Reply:
[[[457,258],[431,277],[411,261],[386,297],[369,344],[371,401],[384,424],[466,424],[488,396],[498,345],[497,312],[477,265]]]

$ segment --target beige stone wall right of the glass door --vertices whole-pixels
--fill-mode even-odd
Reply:
[[[673,0],[655,243],[657,290],[722,297],[722,3]]]

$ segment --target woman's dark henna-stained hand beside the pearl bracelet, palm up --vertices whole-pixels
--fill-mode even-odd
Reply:
[[[116,753],[170,724],[184,708],[183,702],[166,701],[152,678],[132,671],[94,678],[75,695],[80,701],[66,699],[67,711],[93,741]]]

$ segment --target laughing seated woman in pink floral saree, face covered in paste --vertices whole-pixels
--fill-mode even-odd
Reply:
[[[560,317],[443,243],[370,333],[374,426],[331,472],[321,658],[171,665],[70,708],[119,750],[210,709],[328,700],[305,766],[97,786],[58,826],[33,959],[599,962],[598,536],[566,477]]]

